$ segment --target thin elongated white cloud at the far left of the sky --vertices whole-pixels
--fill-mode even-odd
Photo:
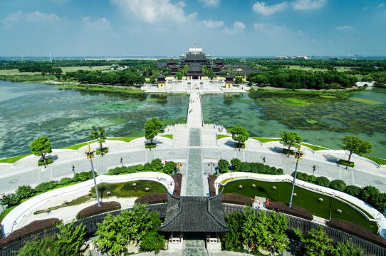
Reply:
[[[57,24],[61,21],[56,14],[43,14],[40,11],[30,12],[24,14],[23,11],[16,11],[14,14],[10,14],[8,17],[1,20],[4,24],[4,29],[10,29],[12,24],[23,22],[26,24]]]

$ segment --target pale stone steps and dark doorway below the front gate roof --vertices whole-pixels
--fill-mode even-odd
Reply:
[[[185,233],[182,256],[207,256],[204,233]]]

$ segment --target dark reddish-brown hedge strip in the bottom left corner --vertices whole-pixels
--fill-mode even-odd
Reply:
[[[6,238],[0,240],[0,249],[5,247],[6,245],[10,245],[11,243],[22,240],[31,235],[38,234],[45,230],[50,230],[56,225],[59,225],[61,222],[57,218],[51,218],[46,220],[35,220],[28,225],[11,232]]]

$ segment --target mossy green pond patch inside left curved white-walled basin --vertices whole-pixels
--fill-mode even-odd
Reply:
[[[136,184],[133,186],[133,184]],[[139,198],[142,195],[151,193],[166,193],[166,188],[161,183],[157,183],[152,180],[134,180],[128,183],[100,183],[98,184],[98,194],[100,198],[108,198],[108,192],[110,191],[110,197],[117,198]],[[146,191],[146,188],[149,188]],[[90,190],[92,197],[95,197],[95,188]]]

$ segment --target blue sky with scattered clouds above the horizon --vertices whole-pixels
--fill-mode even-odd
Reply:
[[[386,56],[386,0],[0,0],[0,56]]]

